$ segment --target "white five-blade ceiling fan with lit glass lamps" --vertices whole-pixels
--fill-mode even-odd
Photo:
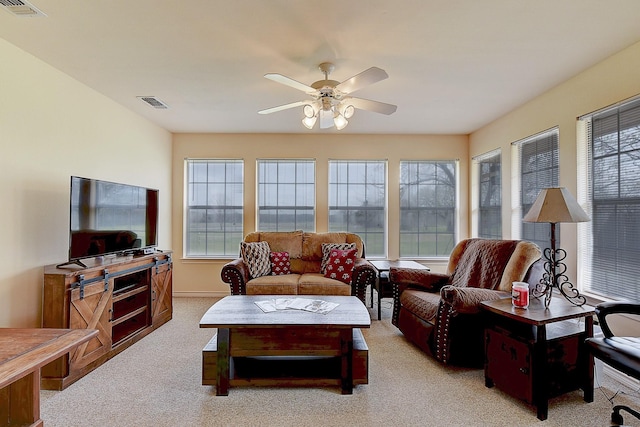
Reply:
[[[302,124],[307,129],[313,129],[319,118],[320,129],[335,126],[336,129],[341,130],[347,126],[349,123],[347,119],[353,116],[356,108],[387,115],[393,114],[398,108],[392,104],[350,96],[352,92],[389,77],[383,69],[371,67],[340,83],[329,80],[329,74],[335,69],[332,63],[323,62],[318,68],[324,73],[324,80],[318,80],[310,86],[282,74],[265,74],[264,76],[269,80],[305,92],[310,99],[267,108],[258,111],[258,114],[271,114],[289,108],[302,107],[304,113]]]

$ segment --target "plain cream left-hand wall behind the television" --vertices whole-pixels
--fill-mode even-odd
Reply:
[[[160,189],[171,247],[171,134],[2,39],[0,63],[0,327],[37,327],[43,267],[67,259],[71,175]]]

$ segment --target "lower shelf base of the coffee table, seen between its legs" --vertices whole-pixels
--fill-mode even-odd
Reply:
[[[202,385],[216,385],[217,334],[202,350]],[[353,329],[353,385],[369,383],[369,348]],[[232,356],[229,385],[266,387],[340,386],[341,359],[331,356]]]

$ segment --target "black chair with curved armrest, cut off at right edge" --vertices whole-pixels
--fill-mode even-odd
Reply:
[[[622,301],[610,301],[596,306],[596,316],[604,337],[587,338],[587,346],[594,357],[602,360],[612,368],[640,380],[640,338],[616,336],[611,331],[607,316],[610,314],[640,315],[640,304]],[[611,413],[611,421],[622,425],[620,411],[624,410],[640,419],[640,412],[625,405],[616,405]]]

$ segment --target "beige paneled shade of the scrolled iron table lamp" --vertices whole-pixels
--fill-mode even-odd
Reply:
[[[564,187],[545,188],[540,191],[524,222],[586,222],[589,215]]]

